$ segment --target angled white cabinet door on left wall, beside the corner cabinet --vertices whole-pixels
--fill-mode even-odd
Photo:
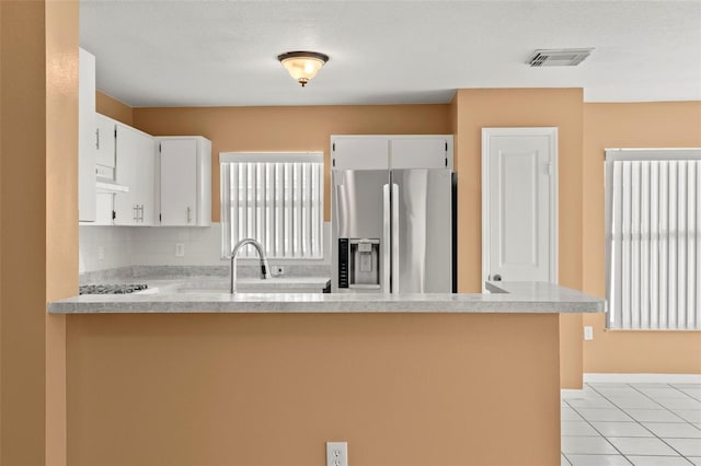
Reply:
[[[156,141],[117,123],[115,180],[129,187],[114,196],[115,225],[153,225]]]

